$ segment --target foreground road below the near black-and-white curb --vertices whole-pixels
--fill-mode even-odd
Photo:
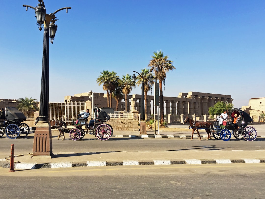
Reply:
[[[1,198],[264,198],[263,164],[0,168]]]

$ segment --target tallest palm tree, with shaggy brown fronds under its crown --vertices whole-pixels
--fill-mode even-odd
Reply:
[[[157,52],[153,52],[153,56],[151,56],[151,60],[148,64],[150,71],[154,72],[154,76],[159,80],[159,93],[160,93],[160,124],[164,123],[164,101],[163,101],[163,89],[162,84],[165,86],[166,73],[168,71],[172,71],[176,69],[172,63],[173,61],[168,60],[168,56],[160,50]]]

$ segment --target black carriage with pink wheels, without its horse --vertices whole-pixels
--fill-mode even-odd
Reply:
[[[94,107],[95,120],[94,126],[89,127],[89,123],[87,123],[87,119],[80,118],[80,123],[76,124],[76,121],[73,120],[73,126],[69,132],[69,136],[71,140],[79,140],[83,139],[85,134],[95,135],[99,140],[108,140],[113,134],[113,128],[110,124],[104,124],[111,117],[105,112],[100,110],[97,106]],[[82,127],[85,127],[83,129]]]

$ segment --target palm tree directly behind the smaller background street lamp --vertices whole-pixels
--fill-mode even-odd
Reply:
[[[136,85],[140,86],[142,85],[142,77],[144,77],[144,119],[147,120],[147,92],[151,89],[151,86],[153,85],[153,81],[149,80],[148,73],[150,73],[149,69],[142,69],[142,72],[140,75],[136,77]],[[141,87],[142,89],[142,87]]]

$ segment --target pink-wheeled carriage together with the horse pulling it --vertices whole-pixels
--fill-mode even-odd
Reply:
[[[74,128],[67,128],[65,122],[61,120],[51,120],[51,128],[56,128],[59,130],[60,135],[64,133],[69,133],[71,140],[80,140],[83,139],[85,134],[95,135],[99,140],[108,140],[113,134],[113,128],[110,124],[104,124],[110,119],[110,116],[105,112],[100,110],[97,106],[94,107],[95,120],[94,126],[89,126],[87,119],[80,118],[79,123],[76,123],[76,120],[72,121],[72,126]],[[35,125],[38,123],[38,117],[36,118]],[[82,127],[85,127],[83,129]],[[58,136],[58,140],[60,138]]]

